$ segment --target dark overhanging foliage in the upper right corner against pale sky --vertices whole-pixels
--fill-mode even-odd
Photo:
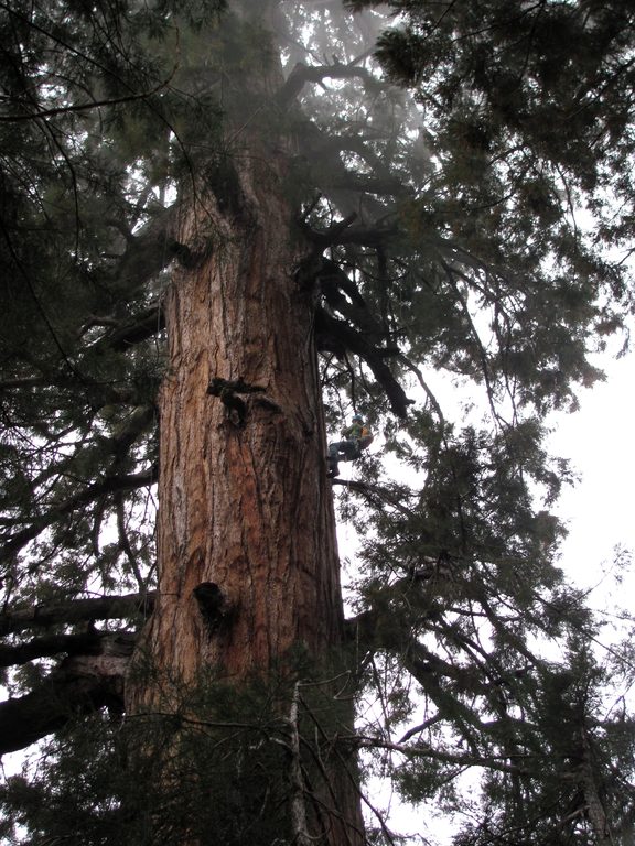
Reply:
[[[444,367],[475,375],[489,357],[469,321],[477,303],[501,349],[491,373],[538,408],[574,403],[569,380],[598,377],[583,352],[593,333],[631,308],[625,265],[598,247],[609,231],[612,243],[632,237],[622,172],[632,171],[633,22],[621,3],[390,6],[402,25],[381,36],[378,57],[419,100],[420,148],[433,163],[405,224],[420,250],[439,236],[453,250],[443,270],[438,256],[427,262],[429,288],[413,292],[426,301],[411,307],[427,314],[440,293],[462,306],[462,327],[446,308],[437,337]],[[598,225],[585,237],[588,209]]]

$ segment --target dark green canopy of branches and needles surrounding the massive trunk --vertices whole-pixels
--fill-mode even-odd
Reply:
[[[3,842],[152,842],[123,688],[157,596],[165,292],[228,250],[182,238],[204,188],[246,218],[240,167],[276,156],[326,425],[376,433],[322,480],[359,534],[357,719],[320,720],[320,679],[196,692],[205,802],[181,785],[171,815],[196,843],[301,843],[280,798],[320,735],[360,755],[369,843],[398,839],[375,777],[455,846],[629,842],[634,659],[598,650],[558,567],[572,474],[543,441],[627,340],[634,23],[617,0],[0,2],[0,752],[46,738],[0,791]],[[245,387],[208,389],[237,429]]]

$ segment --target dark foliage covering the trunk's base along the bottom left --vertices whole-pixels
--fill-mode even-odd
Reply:
[[[169,712],[72,724],[46,745],[34,773],[26,768],[0,789],[3,843],[107,846],[125,833],[130,846],[175,845],[186,831],[202,846],[290,846],[292,730],[302,736],[312,813],[324,815],[323,825],[324,772],[334,756],[348,757],[337,730],[349,731],[331,685],[309,680],[294,726],[293,686],[288,672],[240,691],[209,673],[187,690],[166,686]]]

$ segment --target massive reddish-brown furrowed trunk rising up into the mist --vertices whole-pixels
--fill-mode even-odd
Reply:
[[[256,11],[265,7],[273,14],[277,3]],[[254,842],[258,834],[259,843],[318,837],[355,846],[363,826],[354,760],[335,742],[351,731],[353,709],[335,688],[329,695],[326,684],[342,670],[334,657],[344,626],[314,343],[316,292],[298,272],[310,247],[289,199],[297,194],[289,170],[294,142],[284,116],[276,115],[283,79],[260,24],[251,29],[249,2],[245,9],[238,25],[251,43],[257,34],[262,54],[251,56],[251,73],[241,61],[233,73],[225,64],[226,149],[182,203],[180,265],[165,296],[159,589],[132,662],[127,706],[131,714],[185,711],[189,720],[209,720],[214,687],[205,714],[195,713],[195,696],[184,704],[183,692],[211,679],[241,696],[255,680],[277,685],[265,746],[273,757],[284,750],[277,767],[286,770],[282,780],[266,764],[262,793],[256,785],[259,798],[232,799],[229,828],[209,842]],[[319,719],[306,703],[314,687],[302,694],[309,679],[322,695]],[[341,691],[341,679],[337,684]],[[311,720],[312,737],[319,736],[312,749],[302,739]],[[169,784],[182,783],[173,762],[186,740],[175,744],[162,758]],[[225,776],[234,794],[250,792],[244,787],[248,759],[261,747],[259,736],[238,750],[235,770]],[[277,787],[269,787],[271,779]],[[212,804],[227,795],[213,791],[211,801],[209,789],[203,791]],[[269,806],[271,835],[265,834]],[[237,835],[238,820],[250,814],[252,823]],[[207,842],[191,816],[185,812],[172,842]],[[159,826],[165,840],[164,823]],[[170,826],[174,832],[173,818]]]

